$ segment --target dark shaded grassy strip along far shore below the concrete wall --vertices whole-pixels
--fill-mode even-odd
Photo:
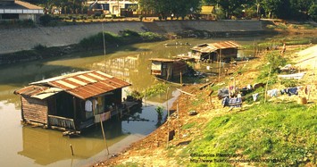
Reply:
[[[46,47],[39,44],[34,46],[31,50],[24,50],[11,54],[0,54],[0,64],[21,63],[51,57],[63,57],[63,55],[80,51],[100,50],[104,48],[104,42],[106,49],[111,50],[112,48],[117,48],[119,46],[160,40],[165,40],[165,38],[153,32],[138,33],[129,29],[121,31],[119,35],[111,32],[104,32],[104,34],[100,32],[89,38],[83,38],[79,44],[71,46]]]

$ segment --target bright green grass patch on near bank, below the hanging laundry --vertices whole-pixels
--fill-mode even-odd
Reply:
[[[204,138],[193,141],[187,151],[189,154],[238,154],[250,161],[279,159],[277,162],[255,163],[264,166],[316,163],[313,162],[316,161],[313,159],[317,134],[316,108],[316,105],[259,104],[242,113],[216,117],[206,125]],[[199,164],[217,166],[229,163]]]

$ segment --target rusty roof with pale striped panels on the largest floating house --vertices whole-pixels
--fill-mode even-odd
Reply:
[[[16,94],[34,96],[47,88],[60,88],[73,96],[87,99],[128,86],[130,86],[128,82],[114,78],[102,71],[79,71],[30,83],[29,87],[16,91]]]

